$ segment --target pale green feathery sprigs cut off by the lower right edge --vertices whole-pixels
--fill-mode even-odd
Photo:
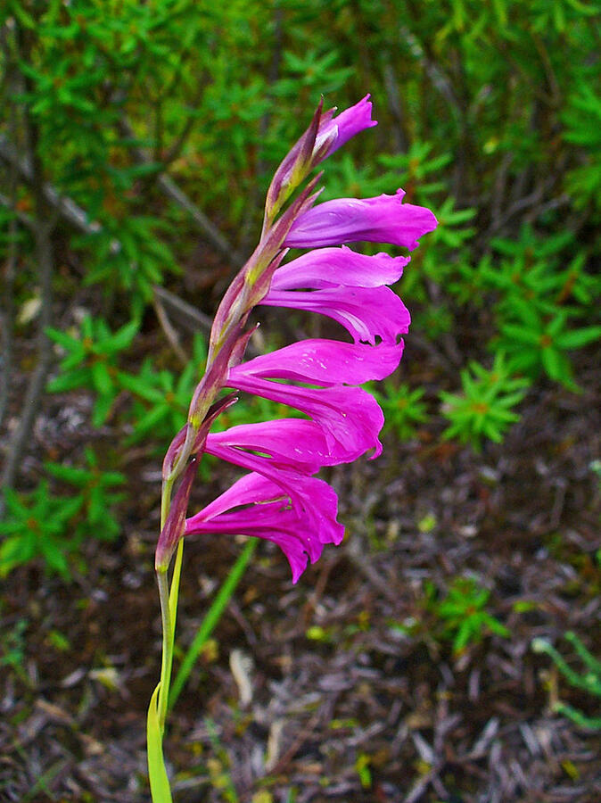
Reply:
[[[572,666],[569,666],[565,658],[563,658],[556,648],[551,643],[547,642],[546,639],[534,639],[532,641],[532,650],[548,655],[549,658],[553,660],[557,669],[564,675],[565,680],[570,683],[574,689],[587,691],[589,694],[601,699],[601,661],[598,661],[597,658],[594,658],[590,654],[589,650],[587,650],[580,641],[576,633],[565,633],[565,641],[572,644],[577,656],[584,665],[585,672],[582,675],[572,669]],[[561,700],[557,700],[554,703],[553,709],[558,714],[564,714],[564,716],[567,716],[568,719],[571,719],[573,723],[580,727],[596,731],[601,730],[601,716],[587,716],[579,711],[578,708],[573,708],[573,706]]]

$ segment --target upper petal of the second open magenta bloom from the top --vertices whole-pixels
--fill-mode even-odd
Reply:
[[[271,289],[393,285],[399,281],[408,261],[410,257],[391,257],[387,253],[366,256],[351,251],[346,245],[341,248],[317,248],[281,265],[271,280]]]

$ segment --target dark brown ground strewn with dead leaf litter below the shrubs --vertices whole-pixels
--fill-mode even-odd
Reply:
[[[284,557],[259,545],[170,717],[179,803],[601,800],[601,735],[550,708],[558,695],[599,716],[599,700],[531,650],[544,636],[572,662],[562,638],[572,629],[601,656],[595,357],[580,360],[582,395],[536,385],[503,446],[482,456],[424,431],[410,443],[389,437],[374,462],[335,469],[345,542],[297,586]],[[409,339],[410,360],[424,360],[413,370],[427,385],[432,371]],[[26,475],[49,453],[111,437],[86,428],[86,410],[85,398],[45,399]],[[129,453],[122,470],[135,506],[124,510],[124,535],[87,543],[86,571],[72,584],[36,567],[3,582],[0,650],[21,639],[24,651],[19,666],[1,667],[3,801],[149,799],[159,468],[144,450]],[[186,546],[184,647],[240,548],[209,537]],[[490,589],[488,610],[508,638],[485,634],[453,653],[424,588],[430,581],[444,596],[457,575]]]

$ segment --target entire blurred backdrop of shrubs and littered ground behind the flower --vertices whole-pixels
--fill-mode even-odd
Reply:
[[[347,535],[297,586],[268,544],[186,547],[176,797],[599,799],[600,18],[4,0],[0,799],[148,799],[162,455],[277,164],[367,93],[322,197],[401,186],[440,221],[395,287],[384,453],[329,471]],[[332,326],[262,321],[256,351]],[[235,477],[201,471],[198,507]]]

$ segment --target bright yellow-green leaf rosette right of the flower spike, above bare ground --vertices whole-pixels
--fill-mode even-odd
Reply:
[[[506,429],[520,418],[514,408],[523,400],[529,381],[513,376],[503,352],[498,352],[490,370],[477,362],[462,370],[461,385],[463,393],[440,392],[442,414],[450,421],[443,438],[457,437],[476,451],[482,448],[482,438],[500,443]]]

